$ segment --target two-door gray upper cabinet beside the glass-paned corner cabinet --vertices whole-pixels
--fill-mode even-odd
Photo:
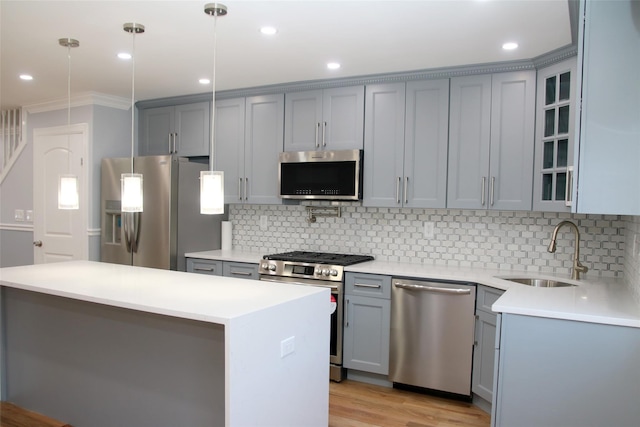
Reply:
[[[530,210],[534,71],[451,79],[447,207]]]

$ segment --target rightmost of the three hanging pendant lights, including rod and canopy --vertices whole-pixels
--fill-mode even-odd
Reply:
[[[216,27],[218,16],[227,14],[227,6],[208,3],[204,13],[213,16],[213,78],[211,79],[211,147],[209,148],[209,170],[200,172],[200,213],[220,215],[224,213],[224,172],[213,170],[216,116]]]

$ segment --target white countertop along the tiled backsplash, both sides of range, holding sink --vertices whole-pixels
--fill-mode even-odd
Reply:
[[[262,258],[259,254],[239,251],[194,252],[188,256],[254,263],[258,263]],[[492,306],[493,311],[499,313],[640,328],[640,304],[619,279],[590,277],[587,274],[585,279],[575,281],[571,280],[568,274],[561,276],[517,270],[490,270],[384,261],[355,264],[345,267],[345,271],[419,279],[468,281],[507,291]],[[536,288],[503,280],[501,277],[548,278],[573,283],[577,286]]]

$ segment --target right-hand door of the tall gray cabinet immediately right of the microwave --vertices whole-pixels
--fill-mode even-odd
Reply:
[[[409,82],[406,96],[403,204],[406,207],[444,208],[447,201],[449,80]]]

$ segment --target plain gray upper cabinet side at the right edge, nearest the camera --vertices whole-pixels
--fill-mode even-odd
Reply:
[[[575,211],[640,214],[640,2],[586,1]]]

